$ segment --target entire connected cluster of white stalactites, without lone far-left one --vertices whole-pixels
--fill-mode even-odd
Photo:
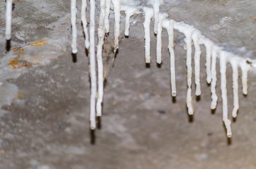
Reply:
[[[75,0],[71,0],[75,1]],[[74,3],[74,2],[73,2]],[[72,7],[75,5],[71,3],[71,23],[73,31],[72,51],[76,53],[76,26],[74,25],[74,14]],[[72,5],[73,4],[73,5]],[[114,11],[114,52],[118,49],[118,39],[120,36],[120,12],[124,11],[126,14],[125,19],[125,35],[129,35],[129,20],[134,14],[144,14],[144,39],[145,39],[145,63],[151,62],[150,57],[150,23],[154,18],[154,33],[157,34],[157,47],[156,47],[156,61],[161,64],[161,33],[162,28],[165,28],[168,33],[168,49],[170,53],[170,78],[172,96],[176,96],[176,75],[175,75],[175,54],[174,54],[174,29],[185,35],[185,43],[187,50],[186,65],[187,65],[187,107],[188,113],[193,114],[193,101],[192,101],[192,43],[194,46],[194,79],[195,79],[195,95],[201,95],[200,87],[200,57],[201,48],[203,44],[206,48],[206,73],[207,83],[211,84],[211,109],[216,109],[217,106],[217,94],[216,94],[216,59],[219,57],[220,68],[221,68],[221,92],[222,92],[222,104],[223,104],[223,122],[227,130],[227,137],[232,136],[231,132],[231,121],[228,119],[227,110],[227,92],[226,92],[226,64],[229,62],[233,69],[233,95],[234,95],[234,108],[232,116],[236,118],[239,109],[239,98],[238,98],[238,67],[242,71],[242,91],[243,94],[247,94],[247,73],[251,66],[247,63],[245,58],[235,56],[232,53],[225,52],[221,47],[217,46],[214,42],[206,38],[201,32],[191,25],[183,22],[176,22],[172,19],[168,19],[168,15],[160,13],[160,5],[163,4],[163,0],[147,0],[147,4],[150,7],[134,6],[124,4],[121,0],[100,0],[100,14],[99,14],[99,26],[98,26],[98,44],[97,44],[97,70],[98,70],[98,87],[96,86],[96,66],[95,66],[95,52],[94,52],[94,31],[95,31],[95,0],[90,1],[90,44],[88,42],[88,34],[86,29],[86,0],[82,0],[82,23],[85,34],[85,47],[88,48],[90,45],[90,72],[91,72],[91,110],[90,110],[90,122],[91,129],[96,127],[96,115],[101,116],[101,103],[103,101],[103,64],[102,64],[102,47],[104,44],[105,33],[109,32],[109,15],[111,6]],[[93,16],[92,16],[93,15]],[[73,19],[72,19],[73,18]],[[75,32],[75,33],[74,33]],[[98,90],[97,90],[98,89]],[[97,92],[96,92],[97,91]],[[97,98],[96,98],[97,96]],[[97,103],[96,103],[97,99]],[[95,109],[96,107],[96,109]]]

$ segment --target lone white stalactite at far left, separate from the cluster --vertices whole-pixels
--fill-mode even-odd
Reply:
[[[5,39],[10,40],[12,38],[12,10],[13,0],[6,1],[6,12],[5,12]]]

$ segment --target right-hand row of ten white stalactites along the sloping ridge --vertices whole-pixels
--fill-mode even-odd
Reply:
[[[158,0],[157,0],[158,1]],[[150,20],[153,17],[153,14],[158,12],[158,17],[155,18],[155,21],[158,22],[157,31],[157,63],[161,63],[161,31],[162,28],[165,28],[168,33],[169,40],[169,53],[170,53],[170,70],[171,70],[171,86],[172,94],[176,96],[176,85],[175,85],[175,55],[174,55],[174,29],[185,35],[185,43],[187,50],[187,107],[188,113],[193,114],[193,101],[192,101],[192,42],[194,46],[194,79],[195,79],[195,95],[201,95],[200,87],[200,57],[201,49],[200,45],[204,45],[206,48],[206,73],[207,73],[207,83],[211,84],[211,109],[216,109],[217,106],[217,94],[216,94],[216,59],[220,58],[220,72],[221,72],[221,92],[222,92],[222,106],[223,106],[223,122],[226,127],[227,137],[232,137],[231,132],[231,121],[228,119],[228,110],[227,110],[227,90],[226,90],[226,64],[229,62],[233,70],[233,111],[232,117],[237,117],[237,112],[239,109],[239,84],[238,84],[238,68],[240,67],[242,72],[242,92],[244,95],[247,95],[247,76],[248,71],[251,69],[251,65],[248,64],[248,59],[236,56],[230,52],[224,51],[221,47],[217,46],[214,42],[206,38],[201,34],[201,32],[192,27],[191,25],[185,24],[184,22],[175,22],[172,19],[167,19],[167,14],[159,13],[159,10],[155,8],[144,7],[144,35],[145,35],[145,62],[150,63]],[[156,23],[155,23],[156,25]],[[154,27],[155,28],[155,27]],[[155,29],[156,30],[156,29]]]

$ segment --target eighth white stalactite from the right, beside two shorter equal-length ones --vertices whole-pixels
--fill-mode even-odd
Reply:
[[[165,19],[162,25],[163,25],[163,28],[165,28],[168,33],[168,49],[170,53],[172,96],[175,97],[177,95],[177,92],[176,92],[175,55],[174,55],[174,20]]]

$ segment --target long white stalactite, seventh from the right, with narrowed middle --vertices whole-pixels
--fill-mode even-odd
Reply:
[[[194,113],[193,110],[193,100],[191,96],[191,85],[192,85],[192,33],[195,30],[194,27],[185,24],[184,22],[176,22],[174,24],[174,28],[177,29],[179,32],[182,32],[186,39],[187,45],[187,84],[188,84],[188,91],[187,91],[187,107],[188,113],[192,115]]]

